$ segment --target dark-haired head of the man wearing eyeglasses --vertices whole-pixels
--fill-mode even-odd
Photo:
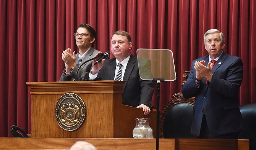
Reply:
[[[79,35],[76,37],[76,45],[79,46],[90,46],[93,47],[96,39],[96,32],[89,24],[79,24],[78,29],[76,30],[78,34],[88,34],[86,37]],[[82,40],[81,40],[82,39]],[[81,43],[83,41],[83,43]],[[79,43],[80,42],[80,43]]]

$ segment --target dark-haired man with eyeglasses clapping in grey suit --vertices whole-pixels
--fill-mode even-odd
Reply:
[[[66,49],[62,53],[62,60],[65,64],[65,69],[60,77],[60,81],[74,81],[76,71],[81,63],[91,59],[99,51],[94,49],[94,43],[96,39],[96,32],[89,24],[80,24],[76,33],[74,33],[76,39],[76,46],[79,48],[79,53],[75,53],[70,48]],[[78,72],[80,74],[86,74],[90,72],[92,67],[92,61],[86,62]],[[76,79],[81,80],[80,78]]]

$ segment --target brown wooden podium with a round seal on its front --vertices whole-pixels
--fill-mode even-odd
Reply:
[[[155,111],[144,116],[141,109],[122,104],[124,82],[27,82],[31,89],[31,137],[133,138],[136,117],[150,118],[156,137]],[[86,118],[75,131],[65,131],[55,118],[58,99],[70,92],[79,95],[86,105]]]

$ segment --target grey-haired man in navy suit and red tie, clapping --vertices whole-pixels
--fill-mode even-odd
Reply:
[[[185,98],[196,97],[191,133],[204,139],[237,139],[243,129],[238,93],[243,62],[223,51],[225,38],[217,29],[204,34],[209,55],[192,62],[182,87]]]

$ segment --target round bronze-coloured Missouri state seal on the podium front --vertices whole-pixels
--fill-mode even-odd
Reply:
[[[78,129],[86,118],[83,99],[75,93],[63,94],[56,104],[55,118],[58,125],[66,131]]]

